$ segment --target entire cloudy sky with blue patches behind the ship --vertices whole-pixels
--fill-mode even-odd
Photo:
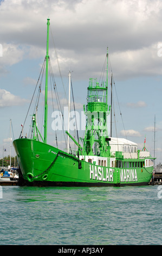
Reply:
[[[155,117],[155,156],[162,162],[161,0],[0,1],[1,157],[3,147],[9,153],[10,119],[14,138],[20,136],[46,56],[48,18],[49,54],[61,98],[67,95],[61,92],[58,62],[65,85],[69,70],[73,71],[74,97],[81,111],[89,78],[100,77],[108,47],[113,92],[118,95],[114,102],[120,106],[113,137],[116,130],[119,137],[126,133],[142,149],[146,136],[146,148],[153,156]],[[51,112],[48,121],[49,143],[53,144]]]

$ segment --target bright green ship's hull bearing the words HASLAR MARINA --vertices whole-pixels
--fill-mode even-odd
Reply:
[[[34,139],[16,139],[13,144],[29,186],[138,186],[152,178],[153,167],[98,166]]]

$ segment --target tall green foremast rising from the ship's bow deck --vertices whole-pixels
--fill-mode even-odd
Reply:
[[[45,103],[44,103],[44,143],[47,143],[47,117],[48,117],[48,48],[49,48],[49,20],[47,19],[47,53],[46,53],[46,86],[45,86]]]

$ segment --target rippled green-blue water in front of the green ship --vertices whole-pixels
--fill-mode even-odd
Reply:
[[[162,186],[1,187],[0,245],[162,245]]]

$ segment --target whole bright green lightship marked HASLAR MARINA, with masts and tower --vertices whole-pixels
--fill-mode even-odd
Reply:
[[[33,114],[33,138],[19,138],[13,144],[20,164],[21,184],[28,186],[134,186],[148,185],[153,173],[153,157],[140,151],[137,144],[127,139],[108,136],[107,104],[108,78],[99,83],[89,80],[85,138],[81,143],[66,131],[77,145],[77,155],[72,155],[47,144],[48,95],[48,45],[49,19],[47,20],[46,87],[44,105],[44,137],[36,125]],[[107,52],[108,70],[108,52]],[[40,141],[38,136],[41,137]],[[23,180],[23,182],[22,182]]]

